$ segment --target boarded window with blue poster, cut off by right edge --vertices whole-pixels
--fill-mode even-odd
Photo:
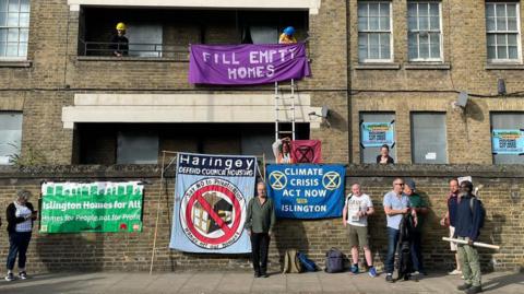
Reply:
[[[524,164],[524,113],[491,114],[495,164]]]

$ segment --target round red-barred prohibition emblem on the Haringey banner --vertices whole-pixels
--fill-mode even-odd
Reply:
[[[180,203],[183,233],[196,246],[223,249],[240,238],[246,198],[230,181],[201,179],[186,190]]]

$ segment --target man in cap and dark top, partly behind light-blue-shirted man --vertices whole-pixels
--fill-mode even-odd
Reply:
[[[409,199],[409,207],[417,212],[418,224],[413,232],[413,242],[412,242],[412,261],[413,261],[413,274],[425,274],[426,270],[424,269],[424,258],[422,258],[422,225],[425,215],[428,214],[428,204],[426,201],[416,192],[415,180],[408,178],[405,180],[404,185],[404,195]]]

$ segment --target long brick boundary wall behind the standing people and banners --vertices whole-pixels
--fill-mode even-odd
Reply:
[[[479,197],[487,210],[487,220],[480,240],[501,246],[500,251],[480,250],[486,270],[520,270],[524,266],[524,167],[522,166],[463,166],[463,165],[352,165],[347,167],[346,190],[359,183],[371,196],[377,213],[369,219],[370,244],[376,264],[381,268],[385,258],[386,235],[382,197],[391,189],[394,177],[412,177],[429,202],[430,213],[425,225],[424,257],[427,269],[451,269],[454,257],[449,245],[441,240],[448,231],[439,225],[445,212],[448,180],[472,175],[476,186],[483,185]],[[155,271],[182,269],[249,269],[247,255],[186,254],[168,248],[172,221],[174,173],[166,173],[166,185],[160,185],[157,166],[49,166],[13,169],[0,168],[0,210],[4,224],[0,230],[0,257],[9,247],[3,211],[20,188],[39,193],[41,181],[64,180],[144,180],[142,233],[115,234],[38,234],[34,232],[28,249],[31,272],[66,270],[126,270],[150,269],[157,208],[159,224]],[[36,198],[36,197],[35,197]],[[37,199],[33,199],[33,203]],[[346,232],[341,219],[279,220],[270,248],[271,268],[279,268],[286,248],[305,250],[310,258],[323,264],[324,252],[337,247],[349,254]]]

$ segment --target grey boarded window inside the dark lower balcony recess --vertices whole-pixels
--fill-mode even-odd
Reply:
[[[117,141],[117,164],[158,162],[158,136],[154,132],[120,131]]]

